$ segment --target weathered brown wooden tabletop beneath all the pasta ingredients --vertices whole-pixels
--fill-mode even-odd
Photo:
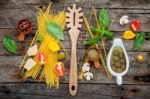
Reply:
[[[108,80],[104,73],[97,71],[96,77],[87,82],[79,81],[78,93],[71,97],[68,90],[69,61],[65,60],[66,75],[60,81],[59,89],[47,89],[45,83],[37,81],[21,81],[16,78],[19,64],[37,30],[36,11],[45,9],[48,3],[53,3],[55,12],[63,10],[72,3],[83,8],[89,18],[91,6],[98,10],[102,7],[109,9],[111,20],[114,22],[110,29],[114,38],[119,38],[129,25],[119,25],[119,18],[126,14],[130,20],[138,19],[141,22],[141,31],[146,32],[147,38],[144,46],[137,52],[133,50],[133,40],[124,41],[130,59],[130,68],[123,78],[123,85],[117,86],[115,78]],[[17,40],[18,31],[16,22],[20,17],[28,17],[33,22],[32,34],[25,42]],[[91,24],[95,24],[91,18]],[[78,67],[84,52],[83,41],[86,39],[86,29],[83,29],[78,39]],[[2,46],[2,38],[7,34],[12,36],[18,44],[17,53],[10,54]],[[112,45],[111,40],[106,41],[107,51]],[[70,52],[70,38],[65,30],[65,48]],[[137,63],[135,57],[138,53],[145,55],[145,61]],[[78,68],[79,69],[79,68]],[[0,99],[150,99],[150,0],[0,0]]]

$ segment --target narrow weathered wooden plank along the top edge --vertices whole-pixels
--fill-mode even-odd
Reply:
[[[77,3],[78,5],[81,5],[83,7],[93,5],[97,8],[108,7],[108,8],[150,9],[150,2],[148,0],[130,0],[130,1],[124,1],[124,0],[42,0],[42,1],[41,0],[24,0],[24,1],[1,0],[0,7],[15,8],[15,7],[21,7],[26,4],[40,5],[40,4],[47,4],[49,2],[57,5],[58,4],[69,5],[72,3]]]

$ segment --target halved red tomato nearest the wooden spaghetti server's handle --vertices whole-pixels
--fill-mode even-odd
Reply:
[[[57,76],[63,77],[65,73],[64,63],[63,62],[57,62],[54,66],[54,72]]]

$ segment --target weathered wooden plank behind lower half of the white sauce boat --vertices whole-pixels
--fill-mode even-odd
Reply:
[[[78,53],[78,70],[80,69],[81,64],[81,54],[80,51]],[[137,52],[139,53],[139,52]],[[150,56],[146,52],[143,52],[145,55],[146,61],[142,64],[139,64],[135,60],[136,52],[128,52],[129,59],[130,59],[130,69],[127,73],[127,75],[123,78],[124,84],[149,84],[150,82],[150,68],[148,59]],[[0,56],[0,82],[20,82],[21,80],[16,78],[16,73],[18,70],[18,66],[21,62],[22,57],[21,56]],[[69,76],[69,61],[65,60],[65,77],[61,79],[61,82],[66,83],[68,82],[68,76]],[[6,72],[7,71],[7,72]],[[80,83],[87,83],[85,80],[81,80]],[[103,69],[100,68],[99,70],[96,70],[96,73],[94,75],[94,79],[89,81],[88,83],[116,83],[115,78],[112,80],[108,80]]]

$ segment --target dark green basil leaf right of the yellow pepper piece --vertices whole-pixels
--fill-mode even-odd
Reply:
[[[140,32],[137,34],[136,39],[134,41],[134,50],[139,50],[145,42],[146,34],[144,32]]]

